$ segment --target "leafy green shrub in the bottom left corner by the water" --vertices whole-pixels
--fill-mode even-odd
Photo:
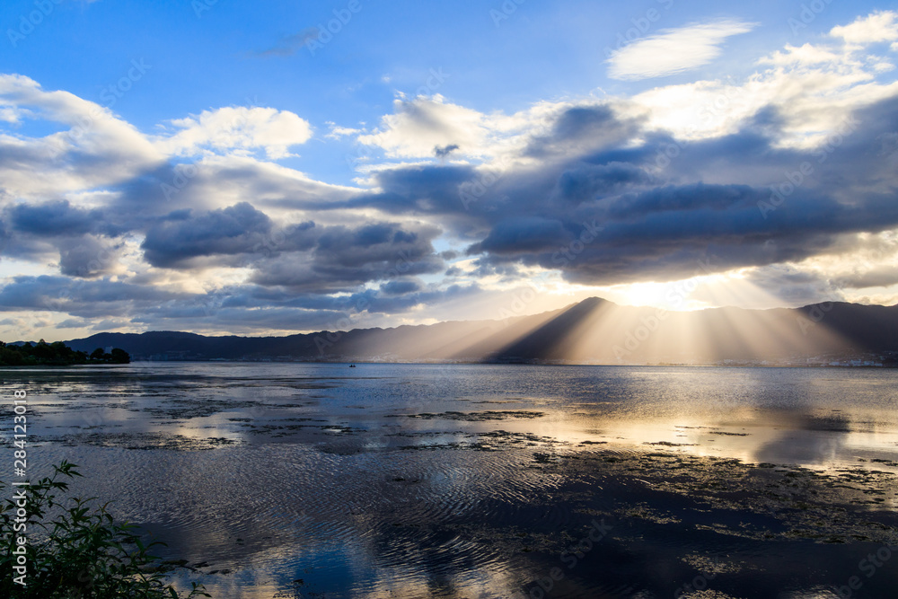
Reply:
[[[54,466],[51,477],[30,487],[10,489],[0,481],[4,504],[0,511],[0,596],[15,599],[179,599],[166,585],[165,564],[149,551],[134,524],[116,522],[107,505],[92,507],[92,499],[68,498],[57,501],[57,492],[66,491],[65,478],[81,476],[73,463]],[[60,480],[62,479],[62,480]],[[22,491],[27,531],[15,531],[16,501]],[[53,510],[57,507],[56,510]],[[51,510],[61,514],[49,519]],[[18,555],[16,538],[25,536],[27,586],[14,581]],[[205,596],[197,583],[188,597]]]

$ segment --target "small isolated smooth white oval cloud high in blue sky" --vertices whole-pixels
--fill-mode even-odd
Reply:
[[[608,59],[612,79],[638,80],[674,75],[707,65],[726,38],[752,31],[754,23],[721,19],[666,30],[621,48]]]

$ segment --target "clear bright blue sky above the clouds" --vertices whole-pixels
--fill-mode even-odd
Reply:
[[[359,0],[360,10],[350,12],[334,39],[310,51],[285,40],[326,26],[333,11],[348,10],[348,2],[50,3],[53,11],[31,34],[15,48],[5,45],[2,72],[28,75],[45,89],[106,105],[103,90],[127,75],[132,60],[142,60],[150,66],[146,76],[117,97],[112,110],[145,131],[202,110],[248,104],[290,110],[319,132],[326,132],[329,122],[355,128],[390,112],[397,92],[413,95],[427,86],[431,69],[448,75],[435,92],[482,112],[514,112],[533,102],[589,94],[632,94],[691,81],[695,73],[660,81],[615,80],[608,76],[608,49],[619,48],[621,40],[642,40],[716,17],[758,23],[726,40],[726,55],[702,68],[706,77],[738,77],[753,68],[741,56],[817,40],[864,12],[864,4],[827,4],[798,27],[789,19],[805,25],[803,3],[724,8],[683,0],[527,0],[422,6]],[[33,0],[4,3],[3,22],[18,31],[22,16],[34,10]],[[292,53],[265,54],[273,48]],[[303,148],[302,159],[287,163],[323,181],[347,183],[352,172],[340,155],[346,151],[354,151],[351,144],[316,144]]]

